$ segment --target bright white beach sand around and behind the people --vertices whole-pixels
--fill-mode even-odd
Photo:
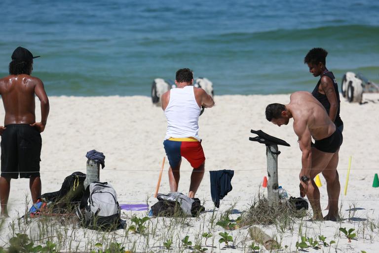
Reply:
[[[120,204],[144,203],[148,197],[149,204],[155,203],[152,194],[165,155],[162,142],[166,121],[161,108],[152,105],[151,98],[62,96],[49,99],[50,115],[42,133],[42,193],[59,190],[65,176],[74,171],[85,173],[85,154],[96,149],[106,156],[106,167],[101,170],[101,180],[114,186]],[[298,197],[301,151],[292,124],[279,128],[265,120],[266,105],[274,102],[288,103],[289,94],[225,95],[216,96],[215,101],[216,106],[205,110],[200,117],[199,125],[206,156],[205,169],[235,171],[232,179],[233,190],[221,202],[220,210],[226,210],[234,202],[237,203],[236,210],[246,210],[266,174],[265,146],[249,141],[249,136],[255,136],[250,133],[250,129],[262,129],[291,144],[291,147],[279,146],[282,152],[278,162],[279,184],[290,195]],[[341,101],[344,139],[338,166],[341,182],[340,200],[343,202],[342,211],[345,218],[348,217],[346,210],[349,206],[355,205],[361,209],[356,211],[354,219],[345,220],[342,225],[331,221],[306,222],[309,232],[314,233],[313,236],[325,235],[328,237],[327,240],[332,240],[335,234],[338,235],[338,228],[341,226],[359,230],[358,241],[347,243],[347,240],[341,237],[338,250],[342,252],[376,252],[379,247],[378,227],[371,232],[374,238],[372,240],[369,232],[362,234],[362,222],[365,219],[375,219],[378,224],[379,218],[379,188],[372,187],[374,173],[379,172],[379,95],[365,94],[364,101],[368,103],[359,105],[348,103],[344,99]],[[37,115],[39,120],[39,112]],[[1,107],[0,118],[3,116]],[[347,195],[344,196],[343,188],[350,156],[350,180]],[[166,160],[165,170],[167,169]],[[187,194],[191,171],[187,161],[183,161],[181,170],[179,191]],[[321,205],[325,208],[326,185],[323,177],[321,180]],[[159,192],[169,192],[167,172],[163,174]],[[9,211],[13,218],[17,217],[18,213],[25,212],[25,196],[30,199],[28,179],[12,180]],[[196,197],[206,200],[207,210],[213,209],[208,172],[204,175]],[[139,212],[137,215],[142,217],[146,212]],[[233,215],[233,218],[238,215]],[[7,219],[7,222],[10,222],[10,219]],[[200,224],[200,221],[195,222],[193,227],[196,228]],[[214,231],[216,252],[219,251],[219,247],[224,246],[218,243],[218,232],[224,230],[221,227],[218,229],[219,231]],[[268,234],[276,233],[274,230],[274,227],[265,228]],[[246,235],[247,230],[240,229],[231,233]],[[7,242],[8,236],[7,233],[1,233],[0,237]],[[193,238],[191,239],[193,241]],[[295,243],[299,240],[298,234],[284,233],[282,246],[288,245],[291,250],[295,250]],[[328,250],[325,248],[326,252]]]

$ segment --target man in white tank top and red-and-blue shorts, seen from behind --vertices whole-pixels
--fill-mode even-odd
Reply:
[[[163,146],[170,169],[168,179],[170,191],[177,192],[182,157],[193,168],[189,185],[189,198],[194,198],[204,175],[205,156],[198,136],[201,107],[211,108],[215,102],[202,88],[192,86],[193,74],[190,69],[176,72],[173,88],[161,97],[162,109],[167,119],[167,132]]]

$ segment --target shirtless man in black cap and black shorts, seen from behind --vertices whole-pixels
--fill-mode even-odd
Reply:
[[[39,56],[17,47],[9,63],[9,76],[0,79],[0,95],[5,110],[1,135],[1,215],[8,216],[7,203],[12,178],[29,178],[33,203],[41,194],[39,162],[41,135],[49,114],[49,100],[43,83],[30,76],[33,59]],[[41,103],[41,122],[36,122],[35,95]]]

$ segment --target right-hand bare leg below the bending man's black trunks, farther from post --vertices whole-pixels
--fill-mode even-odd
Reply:
[[[338,214],[338,199],[340,197],[341,185],[340,178],[337,171],[339,161],[339,151],[337,151],[326,169],[322,171],[326,180],[326,189],[328,191],[328,207],[329,213],[324,217],[326,220],[337,221],[339,219]]]

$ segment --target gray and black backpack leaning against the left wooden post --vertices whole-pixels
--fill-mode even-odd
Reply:
[[[107,182],[89,184],[76,209],[76,216],[88,228],[116,228],[120,222],[120,207],[112,185]]]

